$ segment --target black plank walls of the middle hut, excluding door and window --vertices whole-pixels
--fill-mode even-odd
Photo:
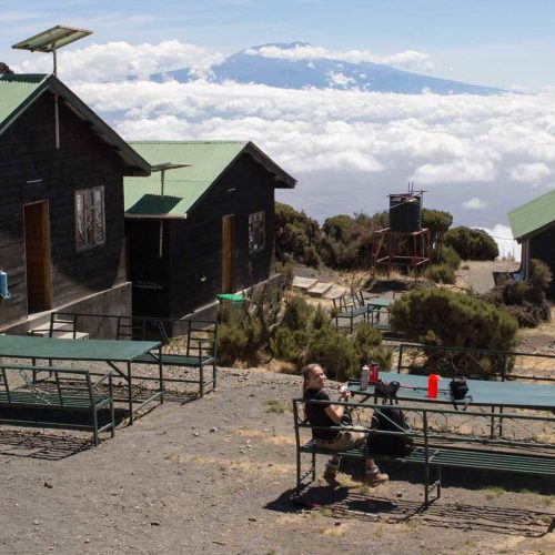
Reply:
[[[249,254],[249,214],[261,210],[265,212],[266,246]],[[151,258],[139,260],[134,254],[135,245],[131,245],[135,241],[151,244],[151,234],[158,239],[158,222],[151,225],[144,220],[127,220],[133,284],[139,278],[162,283],[163,272],[169,276],[168,302],[163,293],[153,293],[151,300],[145,300],[133,286],[134,314],[181,317],[215,300],[222,286],[222,216],[228,214],[235,215],[236,290],[269,278],[274,244],[273,174],[243,153],[216,180],[186,220],[167,222],[168,265],[165,262],[158,265],[160,259],[153,248],[149,248]],[[137,249],[144,249],[144,245]]]

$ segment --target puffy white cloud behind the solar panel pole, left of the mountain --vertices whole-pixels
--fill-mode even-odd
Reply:
[[[160,44],[109,42],[62,51],[58,54],[59,75],[67,81],[113,82],[125,79],[148,79],[152,73],[191,67],[202,77],[223,57],[204,48],[169,40]],[[37,56],[20,65],[18,73],[50,72],[51,56]]]

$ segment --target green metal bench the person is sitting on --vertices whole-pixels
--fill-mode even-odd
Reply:
[[[293,400],[293,414],[295,426],[296,444],[296,494],[299,495],[304,487],[307,477],[312,482],[316,477],[316,455],[339,454],[345,457],[365,458],[367,453],[364,447],[354,447],[347,451],[334,451],[323,446],[317,446],[314,440],[301,438],[301,430],[305,428],[312,432],[314,426],[305,422],[301,414],[303,400]],[[311,401],[320,403],[321,401]],[[324,402],[325,403],[325,402]],[[334,403],[349,406],[351,408],[380,408],[384,405],[373,405],[367,403]],[[456,435],[447,432],[437,432],[428,424],[430,417],[434,414],[456,415],[461,413],[454,410],[423,408],[418,406],[402,407],[403,411],[417,414],[422,426],[417,431],[398,432],[377,432],[385,435],[410,435],[415,442],[415,447],[407,456],[392,456],[372,453],[372,458],[398,464],[421,465],[424,470],[424,507],[441,497],[441,471],[443,467],[473,468],[488,472],[508,472],[526,475],[555,476],[555,443],[537,443],[533,441],[508,441],[501,437],[473,437],[466,435]],[[553,416],[531,416],[515,413],[464,413],[465,418],[498,418],[500,421],[513,420],[521,424],[525,421],[541,421],[546,425],[555,426]],[[337,431],[339,426],[334,426]],[[343,427],[345,430],[345,427]],[[311,457],[309,471],[302,471],[302,455],[307,454]],[[431,470],[436,471],[437,477],[431,481]],[[431,498],[431,494],[436,490],[436,495]]]

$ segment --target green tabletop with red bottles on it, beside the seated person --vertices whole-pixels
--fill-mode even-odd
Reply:
[[[430,403],[451,403],[448,384],[451,377],[444,377],[440,382],[437,398],[427,396],[427,376],[414,374],[397,374],[396,372],[381,372],[380,379],[385,382],[396,381],[401,384],[397,398],[403,401],[418,401]],[[470,405],[478,406],[512,406],[515,408],[555,410],[555,384],[529,384],[517,382],[490,382],[483,380],[467,380],[468,394],[472,401]],[[367,390],[361,390],[359,384],[350,385],[353,395],[374,394],[374,387],[369,385]],[[465,404],[462,400],[460,404]]]

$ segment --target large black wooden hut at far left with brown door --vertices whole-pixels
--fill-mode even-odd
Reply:
[[[56,108],[57,107],[57,108]],[[0,330],[129,313],[123,176],[150,165],[53,75],[0,75]]]

